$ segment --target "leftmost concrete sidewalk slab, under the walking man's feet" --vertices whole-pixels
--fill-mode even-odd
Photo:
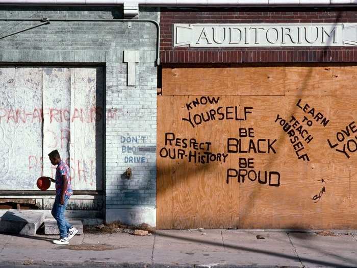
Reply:
[[[4,261],[17,261],[19,263],[26,261],[36,261],[36,263],[63,263],[78,265],[88,263],[88,265],[94,266],[97,263],[124,263],[124,262],[145,262],[151,263],[152,255],[152,242],[149,250],[145,250],[138,246],[136,249],[128,250],[131,246],[131,237],[129,235],[113,234],[113,235],[89,235],[75,236],[70,240],[70,245],[55,245],[52,243],[53,239],[57,239],[58,236],[39,236],[35,237],[22,237],[27,239],[27,243],[24,243],[23,239],[18,236],[14,236],[14,239],[8,241],[3,252],[0,254],[1,260]],[[111,239],[109,239],[109,237]],[[0,239],[2,236],[0,236]],[[24,246],[19,245],[20,240]],[[111,243],[111,244],[110,244]],[[113,246],[112,250],[81,250],[82,245],[91,245],[93,249],[100,249],[102,245]],[[77,247],[73,247],[77,246]],[[73,249],[74,248],[74,249]],[[84,247],[83,247],[84,248]],[[146,248],[149,248],[146,245]],[[70,256],[70,258],[64,258],[63,256]]]

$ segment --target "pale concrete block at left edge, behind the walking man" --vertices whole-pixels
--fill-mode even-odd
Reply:
[[[1,216],[0,232],[35,235],[43,222],[43,211],[9,209]]]

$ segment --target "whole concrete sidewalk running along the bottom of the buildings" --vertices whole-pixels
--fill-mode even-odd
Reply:
[[[357,267],[356,233],[203,232],[158,230],[151,236],[85,233],[65,246],[52,243],[58,236],[0,234],[0,267]],[[265,239],[257,239],[257,235]]]

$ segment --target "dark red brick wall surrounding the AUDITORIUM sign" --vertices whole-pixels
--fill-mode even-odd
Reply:
[[[172,45],[173,23],[357,23],[357,8],[163,9],[162,63],[355,62],[357,47],[222,47]]]

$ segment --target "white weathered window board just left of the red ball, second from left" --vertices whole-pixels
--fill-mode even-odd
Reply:
[[[42,153],[42,86],[41,68],[16,68],[15,100],[22,115],[18,117],[15,138],[17,190],[38,189],[36,180],[42,171],[41,160],[38,158],[38,164],[30,169],[30,156],[39,157]]]

